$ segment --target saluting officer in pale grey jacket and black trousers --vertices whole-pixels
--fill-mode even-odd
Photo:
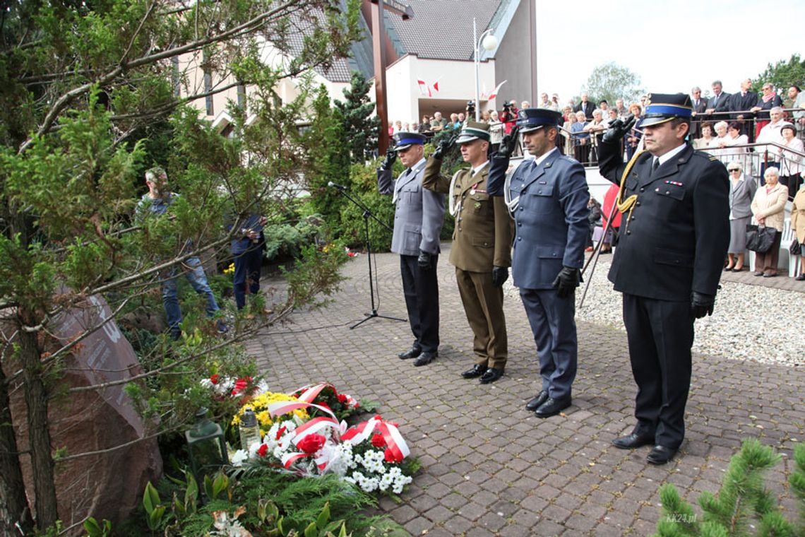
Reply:
[[[403,360],[415,358],[415,366],[425,366],[439,356],[439,235],[444,221],[444,194],[422,188],[425,169],[425,135],[400,132],[395,145],[386,151],[378,168],[378,191],[391,195],[394,209],[394,233],[391,251],[400,256],[403,293],[414,343],[399,353]],[[391,167],[399,155],[406,168],[392,180]]]

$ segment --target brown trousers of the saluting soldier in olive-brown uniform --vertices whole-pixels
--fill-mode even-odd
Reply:
[[[509,345],[503,315],[503,287],[495,287],[491,272],[469,272],[460,268],[456,268],[456,283],[469,328],[473,330],[477,363],[505,370]]]

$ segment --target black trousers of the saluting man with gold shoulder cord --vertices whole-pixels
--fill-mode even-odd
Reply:
[[[678,449],[685,437],[693,320],[687,302],[623,295],[623,322],[638,385],[635,432],[654,432],[654,442],[671,449]]]

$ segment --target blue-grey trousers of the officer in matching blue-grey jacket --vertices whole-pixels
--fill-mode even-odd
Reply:
[[[520,298],[537,344],[542,389],[554,399],[570,397],[579,353],[576,293],[560,299],[555,289],[520,289]]]

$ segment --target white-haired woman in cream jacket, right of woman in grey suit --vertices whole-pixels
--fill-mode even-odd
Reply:
[[[777,275],[777,261],[780,254],[782,224],[785,221],[788,188],[779,183],[779,171],[776,167],[767,167],[763,176],[766,184],[758,188],[752,200],[752,214],[758,225],[774,228],[774,242],[766,254],[756,254],[755,275],[771,278]]]

